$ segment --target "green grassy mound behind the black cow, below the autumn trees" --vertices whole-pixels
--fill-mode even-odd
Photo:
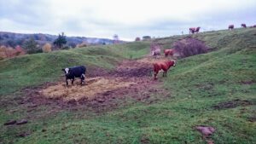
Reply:
[[[120,60],[139,58],[148,54],[148,44],[138,42],[94,46],[0,60],[0,95],[7,95],[28,86],[56,81],[63,73],[61,69],[67,66],[87,66],[89,74],[95,67],[113,69]]]

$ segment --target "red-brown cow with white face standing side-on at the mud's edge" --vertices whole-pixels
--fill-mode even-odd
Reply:
[[[176,66],[176,61],[175,60],[160,61],[160,62],[154,63],[153,66],[154,66],[154,79],[156,79],[158,72],[160,72],[161,70],[164,71],[163,77],[165,77],[168,69],[171,66]],[[166,75],[166,77],[167,77],[167,75]]]

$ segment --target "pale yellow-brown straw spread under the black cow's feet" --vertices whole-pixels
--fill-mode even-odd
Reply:
[[[93,99],[96,94],[102,94],[114,89],[120,89],[135,84],[124,81],[121,78],[86,78],[86,85],[81,86],[79,80],[73,86],[66,86],[65,83],[55,84],[43,89],[41,92],[47,98],[63,99],[64,101],[76,100],[81,98]]]

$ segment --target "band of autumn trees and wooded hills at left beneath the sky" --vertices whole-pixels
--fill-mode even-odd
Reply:
[[[64,32],[59,36],[0,32],[0,60],[25,54],[113,43],[112,40],[100,38],[90,38],[91,43],[87,43],[84,38],[86,37],[66,37]]]

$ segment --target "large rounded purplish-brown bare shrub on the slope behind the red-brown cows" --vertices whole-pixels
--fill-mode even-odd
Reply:
[[[172,47],[180,58],[192,55],[199,55],[207,53],[207,46],[205,43],[194,38],[186,38],[173,43]]]

